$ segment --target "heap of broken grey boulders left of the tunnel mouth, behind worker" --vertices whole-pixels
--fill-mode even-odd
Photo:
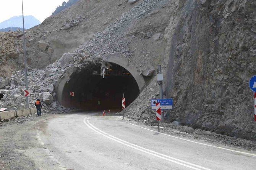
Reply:
[[[45,69],[29,69],[28,89],[30,91],[29,107],[34,107],[37,98],[42,101],[44,109],[47,111],[63,112],[67,108],[62,107],[58,101],[54,100],[56,95],[54,86],[65,69],[58,66],[59,62],[50,64]],[[23,109],[26,107],[26,98],[23,97],[25,87],[24,71],[17,71],[10,78],[0,77],[0,92],[3,93],[3,99],[0,101],[0,107],[7,109]]]

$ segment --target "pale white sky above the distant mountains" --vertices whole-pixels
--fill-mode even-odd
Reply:
[[[42,22],[64,1],[68,0],[23,0],[24,16],[32,15]],[[21,0],[0,0],[0,22],[22,15],[21,4]]]

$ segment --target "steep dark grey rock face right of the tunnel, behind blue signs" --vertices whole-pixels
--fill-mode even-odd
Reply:
[[[193,127],[256,138],[254,0],[181,0],[165,30],[166,95],[172,119]]]

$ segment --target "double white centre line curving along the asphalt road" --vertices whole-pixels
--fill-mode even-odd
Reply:
[[[124,140],[121,140],[119,138],[116,138],[115,136],[109,135],[109,134],[103,132],[102,130],[99,130],[98,128],[96,128],[94,125],[92,125],[89,122],[88,118],[84,118],[84,123],[87,125],[87,127],[91,128],[96,133],[99,133],[100,135],[105,136],[106,138],[109,138],[109,139],[111,139],[113,141],[116,141],[116,142],[118,142],[120,144],[123,144],[125,146],[128,146],[130,148],[136,149],[138,151],[141,151],[141,152],[150,154],[152,156],[156,156],[156,157],[159,157],[161,159],[168,160],[170,162],[173,162],[173,163],[176,163],[176,164],[179,164],[179,165],[183,165],[185,167],[192,168],[192,169],[195,169],[195,170],[202,170],[202,169],[204,169],[204,170],[211,170],[209,168],[201,167],[199,165],[192,164],[190,162],[186,162],[184,160],[180,160],[180,159],[177,159],[177,158],[174,158],[174,157],[170,157],[170,156],[167,156],[167,155],[155,152],[155,151],[151,151],[149,149],[143,148],[143,147],[138,146],[136,144],[132,144],[132,143],[129,143],[127,141],[124,141]]]

